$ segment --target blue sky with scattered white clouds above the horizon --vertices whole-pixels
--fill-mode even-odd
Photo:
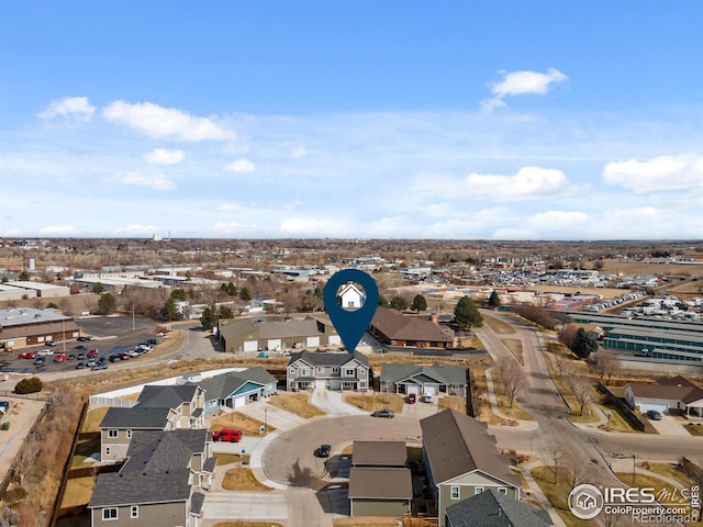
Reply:
[[[698,1],[0,2],[0,236],[701,238]]]

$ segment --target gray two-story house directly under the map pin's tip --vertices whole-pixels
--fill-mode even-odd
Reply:
[[[314,352],[294,354],[286,367],[288,390],[360,390],[369,389],[369,359],[364,354]]]

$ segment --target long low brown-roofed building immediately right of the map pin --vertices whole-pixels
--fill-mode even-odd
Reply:
[[[440,325],[436,317],[405,316],[395,310],[378,307],[369,333],[388,346],[450,348],[454,330]]]

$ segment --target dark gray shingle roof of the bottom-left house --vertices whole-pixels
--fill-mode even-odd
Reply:
[[[120,472],[98,474],[88,507],[187,501],[191,457],[208,440],[208,430],[135,431],[127,462]]]

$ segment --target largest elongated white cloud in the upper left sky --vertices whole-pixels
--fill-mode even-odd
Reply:
[[[114,101],[102,115],[125,124],[150,137],[170,137],[179,141],[234,141],[235,134],[211,119],[197,117],[174,108],[161,108],[152,102],[131,104]]]

